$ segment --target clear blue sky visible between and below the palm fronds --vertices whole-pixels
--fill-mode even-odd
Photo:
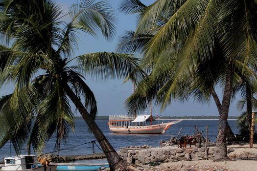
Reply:
[[[55,0],[56,3],[60,4],[65,11],[72,3],[77,3],[77,0]],[[96,0],[97,1],[97,0]],[[78,50],[75,52],[75,56],[86,54],[90,52],[100,52],[108,51],[115,52],[118,37],[122,35],[125,30],[134,30],[136,27],[136,16],[135,15],[125,15],[122,12],[118,12],[117,8],[121,0],[109,0],[111,6],[116,10],[117,15],[117,35],[112,41],[106,41],[101,35],[94,38],[90,35],[83,34],[80,35],[80,42]],[[154,0],[141,0],[146,5],[149,5]],[[66,19],[68,20],[68,19]],[[91,87],[94,92],[98,115],[112,115],[112,114],[125,114],[124,101],[131,94],[133,86],[131,83],[123,84],[123,80],[109,80],[101,81],[94,80],[91,78],[86,78],[86,83]],[[0,91],[0,96],[4,94],[9,94],[12,92],[13,88],[11,85],[3,87]],[[218,90],[221,95],[221,91]],[[220,96],[221,98],[221,96]],[[230,116],[238,116],[240,111],[236,109],[236,103],[239,98],[231,104]],[[222,99],[220,99],[222,100]],[[173,102],[169,107],[167,107],[163,113],[157,108],[153,113],[158,113],[159,115],[169,115],[169,116],[209,116],[218,115],[217,107],[212,101],[208,104],[201,104],[191,98],[188,102]],[[77,113],[78,115],[78,113]]]

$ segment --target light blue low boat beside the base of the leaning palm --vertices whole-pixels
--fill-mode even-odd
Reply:
[[[99,168],[109,168],[108,163],[84,164],[84,163],[50,163],[56,166],[56,171],[97,171]]]

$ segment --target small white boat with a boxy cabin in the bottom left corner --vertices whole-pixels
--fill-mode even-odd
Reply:
[[[56,171],[56,166],[39,166],[38,157],[35,155],[20,155],[4,157],[4,165],[0,165],[3,171]]]

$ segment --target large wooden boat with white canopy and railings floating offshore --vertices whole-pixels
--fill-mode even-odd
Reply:
[[[150,125],[146,122],[149,121]],[[161,134],[164,133],[171,125],[177,124],[183,120],[152,125],[154,119],[151,115],[113,115],[109,116],[109,128],[114,133],[130,133],[130,134]]]

